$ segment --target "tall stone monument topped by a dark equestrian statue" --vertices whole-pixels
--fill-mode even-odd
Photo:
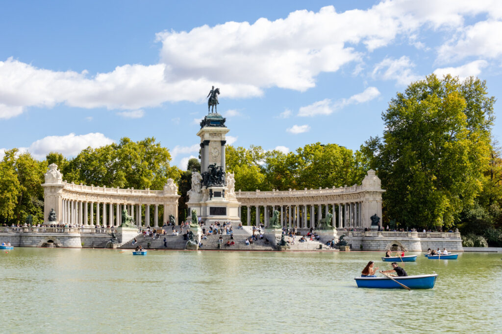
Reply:
[[[208,105],[216,106],[219,89],[209,92]],[[196,210],[201,220],[210,224],[230,221],[238,224],[238,207],[235,197],[235,180],[225,170],[226,119],[211,112],[200,122],[200,173],[192,174],[192,187],[188,191],[189,212]]]

